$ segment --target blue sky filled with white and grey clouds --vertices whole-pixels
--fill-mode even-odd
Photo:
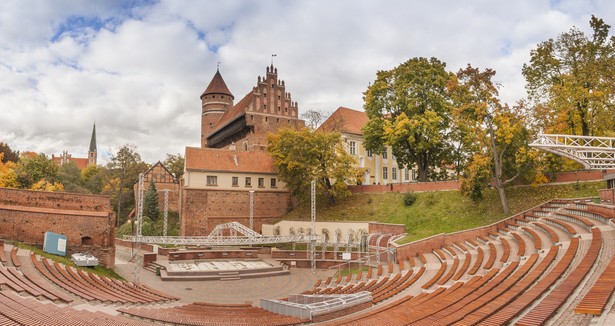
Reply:
[[[300,114],[362,110],[377,71],[413,57],[492,68],[514,103],[530,51],[592,14],[615,25],[615,1],[3,0],[0,142],[86,157],[96,123],[99,163],[126,144],[183,155],[217,66],[239,101],[272,60]]]

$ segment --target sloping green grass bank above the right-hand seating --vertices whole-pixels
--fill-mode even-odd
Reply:
[[[506,190],[512,214],[527,210],[554,198],[596,197],[604,182],[564,185],[520,186]],[[482,201],[475,203],[458,191],[415,193],[416,202],[405,206],[403,193],[355,194],[334,206],[318,203],[318,221],[378,221],[406,226],[410,242],[435,234],[488,225],[506,218],[495,190],[488,190]],[[301,204],[282,217],[284,220],[310,219],[310,207]]]

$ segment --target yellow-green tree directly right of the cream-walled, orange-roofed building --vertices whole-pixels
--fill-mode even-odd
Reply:
[[[339,133],[283,128],[267,140],[280,180],[297,198],[309,198],[312,180],[317,181],[318,195],[330,204],[350,194],[345,182],[355,181],[358,172],[354,158],[342,148]]]

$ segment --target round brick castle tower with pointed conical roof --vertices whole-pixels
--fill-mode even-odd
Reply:
[[[229,91],[220,70],[201,94],[201,147],[207,147],[207,135],[214,130],[218,120],[229,108],[233,107],[235,97]]]

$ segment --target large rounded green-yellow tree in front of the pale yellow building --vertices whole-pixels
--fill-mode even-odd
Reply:
[[[451,100],[446,88],[454,75],[436,58],[413,58],[379,71],[364,93],[369,121],[365,147],[381,153],[390,145],[400,166],[416,164],[420,181],[430,168],[448,161]]]

